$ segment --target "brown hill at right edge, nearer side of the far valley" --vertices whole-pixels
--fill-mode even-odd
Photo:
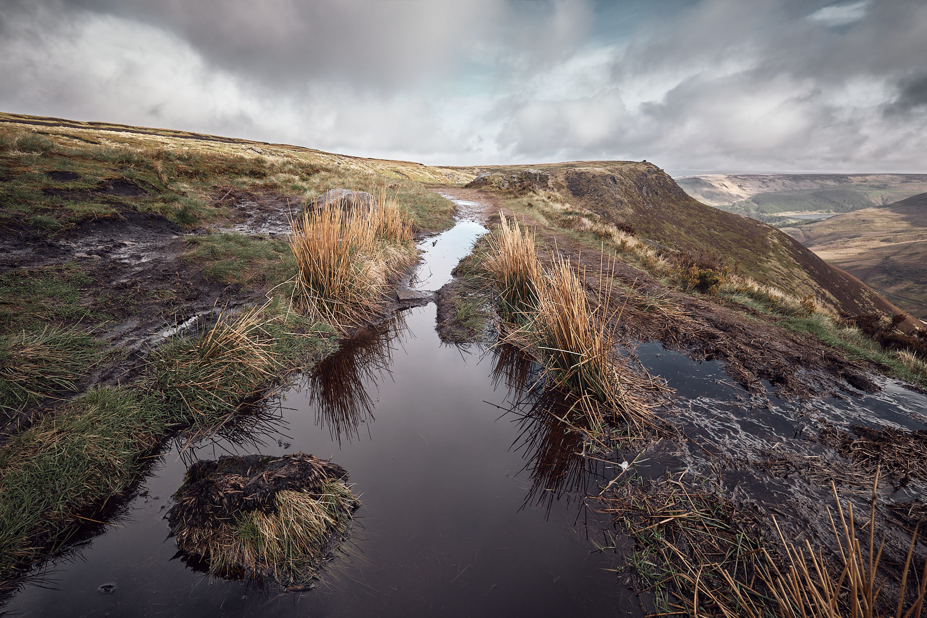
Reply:
[[[911,315],[927,318],[927,193],[782,232]]]

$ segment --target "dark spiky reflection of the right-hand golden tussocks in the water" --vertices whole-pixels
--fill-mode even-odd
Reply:
[[[508,412],[520,430],[515,450],[526,460],[531,479],[524,506],[545,506],[550,511],[555,500],[584,494],[591,478],[601,474],[595,460],[581,454],[582,435],[561,421],[575,402],[558,391],[542,388],[540,365],[517,347],[493,347],[492,354],[492,383],[508,389]]]

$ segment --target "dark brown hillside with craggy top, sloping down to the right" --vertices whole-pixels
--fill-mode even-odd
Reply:
[[[705,206],[663,170],[646,162],[580,161],[534,166],[571,203],[606,221],[627,222],[671,249],[712,254],[761,284],[795,296],[812,294],[836,311],[895,313],[898,309],[856,277],[834,268],[790,236],[747,217]],[[523,167],[462,168],[511,173]]]

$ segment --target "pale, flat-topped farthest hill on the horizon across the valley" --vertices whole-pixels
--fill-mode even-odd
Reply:
[[[704,204],[768,223],[882,206],[927,191],[927,174],[704,174],[676,182]]]

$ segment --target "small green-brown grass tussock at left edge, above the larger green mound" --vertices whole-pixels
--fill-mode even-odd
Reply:
[[[0,411],[78,392],[99,359],[99,342],[77,328],[46,326],[0,340]]]

